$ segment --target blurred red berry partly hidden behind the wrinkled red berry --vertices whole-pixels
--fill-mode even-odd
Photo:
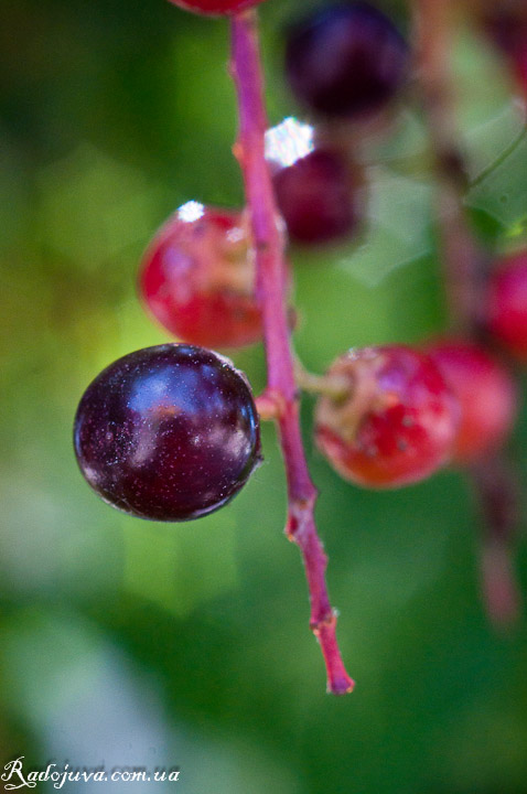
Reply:
[[[427,353],[460,403],[453,459],[467,463],[498,448],[516,414],[508,371],[482,347],[461,340],[435,342]]]

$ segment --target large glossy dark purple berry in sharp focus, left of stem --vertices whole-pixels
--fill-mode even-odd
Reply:
[[[146,347],[104,369],[78,406],[74,446],[105,502],[164,522],[222,507],[260,460],[245,376],[228,358],[183,344]]]

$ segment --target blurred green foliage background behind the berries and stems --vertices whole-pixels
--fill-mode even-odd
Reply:
[[[408,28],[402,3],[383,8]],[[283,28],[303,9],[261,8],[273,125],[305,120],[282,76]],[[165,0],[2,0],[0,13],[1,765],[181,769],[176,784],[114,784],[125,792],[525,794],[526,625],[497,635],[487,623],[462,473],[392,493],[346,484],[312,449],[305,398],[330,590],[357,680],[342,699],[324,691],[300,556],[282,536],[272,427],[243,493],[190,524],[129,518],[83,481],[71,428],[86,385],[168,339],[137,298],[144,246],[189,200],[241,202],[228,30]],[[470,24],[453,64],[477,174],[520,116]],[[351,345],[444,328],[424,152],[410,86],[372,147],[366,234],[291,251],[295,344],[311,369]],[[469,193],[491,250],[525,234],[526,163],[524,139]],[[262,351],[233,357],[258,393]],[[523,485],[526,419],[523,407],[510,443]],[[525,548],[518,571],[527,591]],[[64,791],[90,787],[100,783]]]

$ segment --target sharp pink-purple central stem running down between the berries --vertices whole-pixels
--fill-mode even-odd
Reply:
[[[286,533],[300,548],[308,578],[310,627],[319,640],[327,672],[327,690],[352,691],[336,642],[336,614],[325,584],[327,564],[316,534],[316,490],[311,482],[300,429],[293,355],[288,325],[284,237],[268,171],[264,135],[267,117],[260,66],[256,11],[234,15],[232,21],[232,74],[239,106],[239,131],[235,154],[244,175],[257,266],[257,294],[264,318],[268,387],[265,403],[276,405],[277,423],[288,483]]]

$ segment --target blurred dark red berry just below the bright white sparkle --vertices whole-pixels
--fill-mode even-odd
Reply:
[[[359,183],[346,160],[315,149],[273,174],[289,236],[304,245],[351,236],[361,223]]]

